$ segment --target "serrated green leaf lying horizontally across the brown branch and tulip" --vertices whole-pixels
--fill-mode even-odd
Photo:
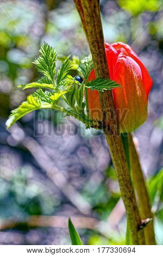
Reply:
[[[121,86],[108,78],[96,78],[95,80],[88,82],[85,87],[90,88],[91,90],[96,89],[98,92],[104,92],[104,90],[111,90]]]

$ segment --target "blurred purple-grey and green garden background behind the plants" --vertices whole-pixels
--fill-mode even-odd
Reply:
[[[106,42],[131,45],[154,81],[148,120],[135,132],[163,243],[163,3],[159,0],[102,0]],[[36,111],[5,127],[11,109],[37,81],[32,64],[43,41],[75,62],[89,54],[72,0],[0,1],[0,243],[70,245],[67,218],[85,244],[121,245],[126,217],[102,132],[85,130],[55,111]],[[58,65],[60,62],[58,61]],[[77,70],[74,68],[74,75]]]

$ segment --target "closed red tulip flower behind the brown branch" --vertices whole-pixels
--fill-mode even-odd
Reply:
[[[139,57],[129,45],[117,42],[105,43],[106,58],[110,79],[121,85],[112,89],[120,132],[132,132],[147,119],[148,94],[152,79]],[[95,79],[95,71],[89,75],[89,81]],[[99,95],[96,90],[88,89],[90,115],[102,121]]]

